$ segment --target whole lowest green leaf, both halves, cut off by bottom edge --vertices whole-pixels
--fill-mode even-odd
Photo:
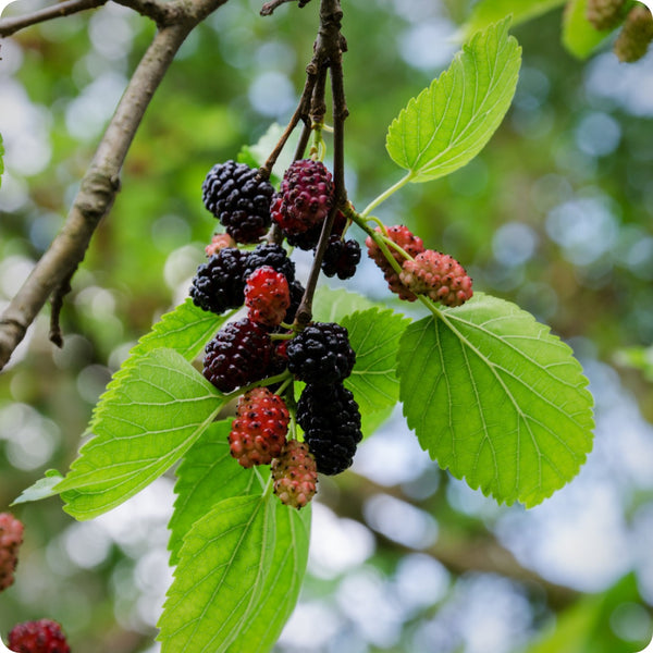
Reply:
[[[159,623],[163,653],[270,650],[308,555],[306,528],[289,510],[270,492],[236,496],[193,526]]]

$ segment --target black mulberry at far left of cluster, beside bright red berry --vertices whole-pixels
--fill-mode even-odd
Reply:
[[[196,306],[214,313],[238,308],[245,301],[243,273],[248,252],[225,247],[197,268],[190,286],[190,297]]]

